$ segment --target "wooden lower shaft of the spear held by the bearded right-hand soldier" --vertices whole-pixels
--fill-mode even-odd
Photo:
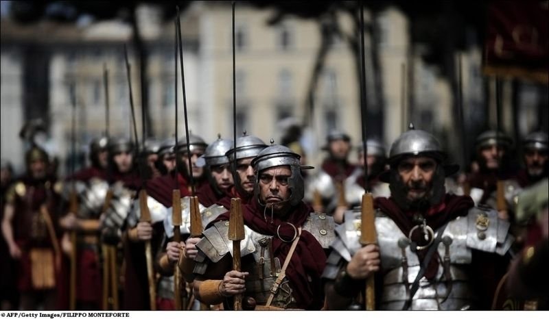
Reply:
[[[362,216],[360,226],[360,244],[366,246],[375,244],[375,213],[373,210],[373,196],[371,193],[362,195]],[[373,274],[366,279],[365,291],[366,310],[375,310],[375,283]]]

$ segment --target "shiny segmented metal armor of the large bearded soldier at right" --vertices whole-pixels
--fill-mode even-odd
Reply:
[[[331,244],[334,251],[323,274],[327,279],[335,279],[344,261],[350,261],[361,248],[360,212],[348,211],[345,215],[344,224],[336,229],[338,238]],[[401,310],[410,298],[410,288],[420,269],[419,259],[410,250],[408,234],[402,233],[393,220],[379,211],[375,229],[381,255],[380,272],[383,274],[379,307]],[[437,235],[438,231],[433,238]],[[438,273],[432,281],[425,277],[420,279],[409,309],[471,308],[474,291],[469,283],[467,264],[471,263],[472,249],[504,255],[513,240],[509,234],[509,222],[498,219],[498,213],[493,209],[474,207],[467,216],[451,220],[437,247],[441,257]]]

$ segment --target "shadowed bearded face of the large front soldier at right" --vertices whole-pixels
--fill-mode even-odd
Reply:
[[[406,185],[406,199],[425,199],[432,188],[436,161],[430,157],[408,157],[397,166],[398,173]]]

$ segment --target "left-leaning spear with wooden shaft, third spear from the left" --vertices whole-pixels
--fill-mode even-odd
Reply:
[[[137,124],[135,123],[135,108],[133,105],[132,97],[132,80],[131,80],[131,66],[128,61],[128,51],[126,50],[126,45],[124,45],[124,59],[126,60],[126,71],[128,75],[128,88],[130,93],[130,107],[132,110],[132,120],[133,120],[133,129],[135,133],[135,144],[137,148],[137,154],[139,152],[139,137],[137,136]],[[144,118],[143,118],[144,121]],[[145,127],[143,125],[143,148],[145,147]],[[149,207],[147,205],[147,190],[146,190],[146,181],[145,176],[143,175],[143,165],[145,165],[145,159],[140,161],[139,164],[139,175],[141,176],[141,190],[139,191],[139,208],[141,210],[141,217],[139,218],[140,222],[151,222]],[[145,259],[147,263],[147,278],[149,283],[149,298],[150,298],[150,309],[156,310],[156,290],[154,285],[154,269],[152,268],[152,248],[150,240],[145,240]]]

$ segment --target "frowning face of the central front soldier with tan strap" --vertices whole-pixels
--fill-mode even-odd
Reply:
[[[291,191],[288,179],[292,177],[292,170],[288,166],[274,166],[259,173],[259,199],[272,207],[275,212],[280,212],[288,205]]]

